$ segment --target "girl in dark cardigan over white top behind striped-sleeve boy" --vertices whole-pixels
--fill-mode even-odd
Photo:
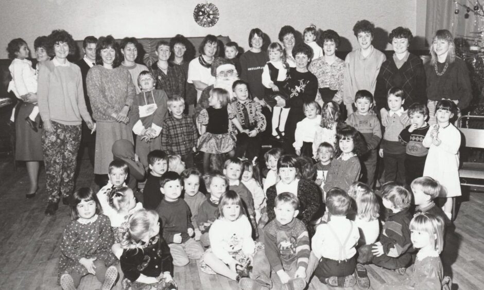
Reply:
[[[295,156],[283,155],[278,160],[278,174],[280,180],[267,189],[267,215],[268,221],[275,218],[275,197],[283,192],[295,194],[299,199],[299,214],[297,216],[306,227],[316,218],[315,214],[321,206],[321,194],[318,186],[311,180],[301,178],[299,164]],[[310,230],[310,232],[314,232]]]

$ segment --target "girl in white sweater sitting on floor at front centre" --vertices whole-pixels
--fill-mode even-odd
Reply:
[[[252,240],[252,228],[245,215],[240,196],[232,190],[223,193],[218,204],[218,218],[210,228],[211,247],[200,260],[200,268],[207,274],[219,274],[239,282],[242,289],[256,289],[271,285],[268,275],[252,266],[268,263],[264,245]]]

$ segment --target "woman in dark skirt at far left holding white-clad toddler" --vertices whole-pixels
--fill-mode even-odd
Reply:
[[[38,37],[33,42],[33,47],[36,52],[38,73],[39,64],[49,59],[47,55],[47,47],[49,40],[46,36]],[[19,104],[17,108],[18,115],[15,119],[23,120],[37,103],[37,94],[29,94],[27,100]],[[25,161],[27,166],[27,173],[30,181],[30,189],[25,194],[25,197],[32,198],[36,195],[39,188],[39,168],[40,161],[44,160],[42,156],[42,129],[39,128],[37,132],[33,131],[27,122],[15,122],[15,160]]]

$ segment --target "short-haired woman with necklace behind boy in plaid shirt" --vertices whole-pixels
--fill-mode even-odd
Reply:
[[[156,88],[164,90],[169,98],[175,95],[185,98],[185,74],[178,65],[168,62],[171,56],[170,44],[164,40],[159,41],[156,54],[158,61],[151,66]]]

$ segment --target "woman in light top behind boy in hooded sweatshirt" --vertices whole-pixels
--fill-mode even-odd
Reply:
[[[138,45],[138,41],[134,37],[125,37],[120,43],[121,54],[124,57],[121,67],[129,71],[134,87],[136,88],[136,94],[140,94],[141,92],[141,88],[138,85],[138,76],[143,70],[148,70],[146,65],[134,62],[138,57]]]

